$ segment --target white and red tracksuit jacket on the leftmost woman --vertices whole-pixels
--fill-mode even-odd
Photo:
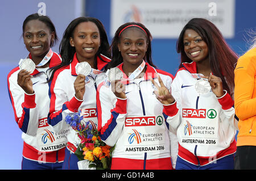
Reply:
[[[53,52],[49,61],[49,68],[52,68],[61,62],[61,58],[59,54]],[[10,71],[7,83],[15,120],[24,140],[23,157],[55,163],[64,160],[67,130],[55,132],[47,123],[50,102],[47,83],[49,68],[35,69],[31,74],[35,91],[32,95],[26,94],[17,83],[19,67]]]

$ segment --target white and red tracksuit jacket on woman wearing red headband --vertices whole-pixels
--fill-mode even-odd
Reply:
[[[145,158],[171,157],[170,132],[164,123],[163,104],[156,99],[148,77],[151,76],[159,84],[158,78],[155,77],[158,73],[164,85],[170,89],[173,76],[156,70],[147,63],[146,66],[143,78],[123,82],[126,86],[126,99],[117,98],[111,90],[111,85],[105,86],[103,82],[98,87],[98,130],[107,145],[115,145],[113,159],[141,159],[146,162]],[[122,64],[118,68],[122,70]],[[124,77],[126,78],[125,74]],[[175,138],[176,136],[171,134],[173,167],[177,155]]]

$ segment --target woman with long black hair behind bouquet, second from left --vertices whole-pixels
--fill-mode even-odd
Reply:
[[[65,117],[81,110],[84,121],[92,120],[97,127],[96,90],[104,80],[105,66],[110,62],[108,37],[100,20],[91,17],[72,20],[61,40],[60,54],[63,61],[49,79],[51,103],[48,123],[55,130],[69,129],[63,169],[77,170],[79,159],[74,153],[81,140],[77,132],[67,125]]]

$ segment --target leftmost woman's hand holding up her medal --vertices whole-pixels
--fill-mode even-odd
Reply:
[[[34,89],[33,89],[33,83],[31,81],[32,75],[29,74],[30,72],[26,70],[20,70],[18,73],[18,85],[22,87],[22,89],[27,93],[27,94],[33,94]]]

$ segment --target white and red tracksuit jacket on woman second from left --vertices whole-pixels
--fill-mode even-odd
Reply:
[[[85,84],[84,100],[78,100],[75,97],[74,82],[76,80],[76,65],[79,63],[76,53],[71,64],[57,70],[51,81],[51,103],[48,116],[48,123],[52,125],[54,130],[69,128],[67,148],[75,152],[81,140],[77,136],[77,132],[65,122],[65,117],[69,113],[82,111],[84,119],[92,120],[97,127],[97,110],[96,110],[96,90],[100,82],[104,81],[105,66],[110,62],[108,57],[100,55],[102,61],[97,57],[98,70],[102,72],[97,75],[89,74],[89,82]]]

